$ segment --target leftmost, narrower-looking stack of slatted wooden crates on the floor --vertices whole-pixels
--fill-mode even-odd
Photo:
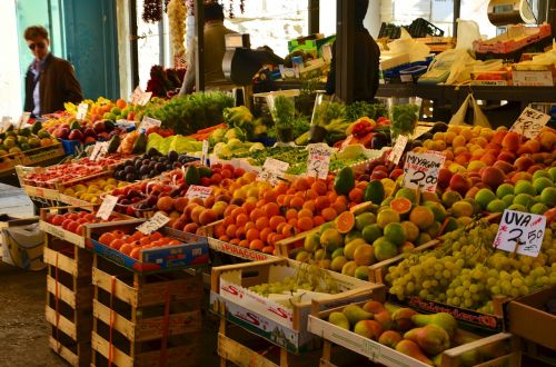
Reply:
[[[50,348],[71,366],[89,366],[92,329],[92,256],[82,248],[46,235],[47,304]]]

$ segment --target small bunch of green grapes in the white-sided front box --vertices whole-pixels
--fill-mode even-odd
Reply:
[[[295,292],[301,289],[334,295],[338,292],[338,284],[325,269],[316,265],[301,264],[292,277],[249,287],[249,290],[264,297],[268,297],[270,294]]]

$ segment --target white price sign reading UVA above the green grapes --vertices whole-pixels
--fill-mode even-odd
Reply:
[[[546,217],[504,210],[494,247],[508,252],[537,257],[545,235]]]

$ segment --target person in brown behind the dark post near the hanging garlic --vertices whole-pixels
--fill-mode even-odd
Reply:
[[[226,81],[222,71],[222,60],[226,53],[225,36],[234,33],[232,30],[224,27],[222,6],[217,2],[205,3],[205,83],[210,87],[211,83]],[[195,47],[188,49],[187,72],[181,85],[180,96],[191,93],[195,87]]]

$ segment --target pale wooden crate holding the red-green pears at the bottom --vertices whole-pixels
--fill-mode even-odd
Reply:
[[[322,310],[326,308],[325,301],[312,301],[311,315],[309,316],[309,331],[319,336],[324,340],[321,367],[334,367],[334,354],[331,353],[332,344],[339,345],[348,350],[355,351],[370,360],[386,366],[416,367],[429,366],[407,355],[404,355],[395,349],[379,344],[373,339],[368,339],[357,335],[350,330],[337,327],[328,323],[328,316],[334,311],[341,311],[345,306],[332,309]],[[363,306],[365,301],[358,302]],[[470,333],[458,329],[458,333],[473,336]],[[483,357],[481,363],[476,366],[495,367],[495,366],[520,366],[522,354],[519,351],[519,340],[512,334],[499,333],[475,341],[464,344],[461,346],[447,349],[441,355],[441,367],[459,367],[461,366],[460,356],[466,353],[477,353],[479,349],[488,348],[496,351],[490,356]],[[485,349],[483,349],[485,350]],[[336,363],[340,361],[334,358]]]

